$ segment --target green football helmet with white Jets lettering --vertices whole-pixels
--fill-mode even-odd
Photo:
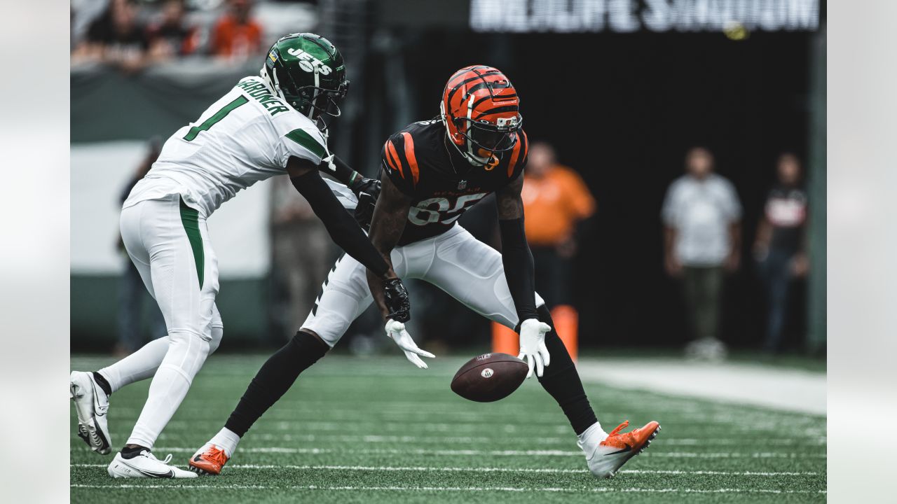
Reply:
[[[343,55],[314,33],[291,33],[268,50],[261,75],[293,109],[313,121],[340,115],[349,91]]]

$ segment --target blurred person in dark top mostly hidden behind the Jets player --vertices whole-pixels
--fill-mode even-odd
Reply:
[[[144,161],[137,166],[134,176],[131,177],[126,186],[123,187],[121,196],[118,198],[119,206],[125,203],[127,196],[131,193],[131,189],[135,187],[141,178],[144,178],[146,172],[152,168],[152,163],[159,158],[162,140],[154,137],[150,140],[149,150],[146,152]],[[131,258],[127,256],[125,244],[118,237],[118,251],[124,257],[125,273],[122,274],[121,283],[118,291],[118,344],[115,348],[116,355],[127,355],[135,352],[144,346],[143,335],[143,313],[144,307],[148,309],[147,317],[150,326],[150,337],[152,339],[161,338],[168,334],[165,327],[165,319],[159,310],[159,305],[155,302],[147,300],[148,292],[144,286],[144,281],[140,277]]]

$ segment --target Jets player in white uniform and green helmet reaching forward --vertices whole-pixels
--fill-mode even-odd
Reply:
[[[109,395],[152,377],[144,409],[109,465],[109,475],[196,476],[169,465],[170,456],[158,460],[152,446],[221,342],[222,318],[215,307],[218,266],[205,221],[239,190],[289,175],[335,243],[386,282],[380,303],[384,317],[395,323],[408,319],[402,282],[318,174],[318,169],[331,170],[361,200],[368,198],[372,212],[373,197],[367,193],[376,193],[379,182],[362,178],[327,151],[323,116],[339,115],[336,100],[347,86],[343,57],[327,39],[310,33],[279,39],[260,75],[240,80],[195,123],[170,136],[159,160],[126,199],[122,239],[161,308],[168,336],[107,368],[72,373],[78,435],[100,454],[111,446]],[[300,355],[328,348],[306,333],[297,334],[288,347]],[[431,356],[416,346],[406,350]]]

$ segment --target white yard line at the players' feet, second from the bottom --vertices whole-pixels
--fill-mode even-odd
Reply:
[[[107,464],[72,464],[72,467],[106,467]],[[539,474],[588,474],[588,469],[535,469],[513,467],[396,467],[376,465],[274,465],[274,464],[234,464],[228,469],[288,469],[292,471],[399,471],[399,472],[436,472],[436,473],[539,473]],[[666,474],[666,475],[714,475],[714,476],[816,476],[818,473],[791,472],[732,472],[732,471],[673,471],[650,469],[623,469],[621,474]]]

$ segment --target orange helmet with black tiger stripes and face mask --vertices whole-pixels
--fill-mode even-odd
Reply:
[[[517,91],[491,66],[458,70],[442,92],[440,112],[448,139],[475,166],[514,148],[523,124]]]

